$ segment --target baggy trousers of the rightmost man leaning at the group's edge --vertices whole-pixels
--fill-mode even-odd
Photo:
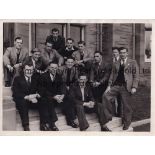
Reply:
[[[113,86],[110,89],[110,92],[104,93],[102,96],[102,105],[104,109],[104,120],[103,124],[106,124],[109,120],[112,119],[112,100],[120,95],[122,102],[123,115],[122,120],[127,124],[131,123],[132,120],[132,95],[127,91],[125,86]]]

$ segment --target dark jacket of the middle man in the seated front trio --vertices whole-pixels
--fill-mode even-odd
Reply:
[[[53,99],[55,95],[63,94],[60,75],[56,74],[54,81],[52,81],[49,72],[42,74],[40,76],[39,94],[47,99]]]

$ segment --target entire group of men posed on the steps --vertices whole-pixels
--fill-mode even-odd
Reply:
[[[67,125],[85,131],[86,112],[95,112],[101,131],[111,131],[107,123],[114,115],[122,117],[123,130],[132,121],[131,98],[138,87],[139,69],[128,58],[128,49],[113,47],[111,63],[99,51],[90,52],[85,42],[78,48],[54,28],[45,48],[34,48],[31,56],[22,47],[21,37],[4,53],[5,86],[12,87],[24,131],[29,131],[28,111],[37,106],[41,131],[58,131],[55,108],[62,109]],[[117,103],[117,106],[116,106]],[[78,118],[78,124],[75,122]]]

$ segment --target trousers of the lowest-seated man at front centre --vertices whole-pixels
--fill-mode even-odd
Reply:
[[[88,107],[84,107],[83,103],[81,102],[81,104],[77,104],[76,105],[76,111],[77,111],[77,117],[78,117],[78,121],[79,121],[79,127],[80,130],[86,129],[89,127],[89,123],[86,119],[86,113],[92,113],[95,112],[98,116],[99,119],[99,123],[101,125],[103,125],[104,122],[104,109],[103,109],[103,105],[102,103],[98,102],[96,103],[96,105],[94,106],[94,108],[88,108]]]

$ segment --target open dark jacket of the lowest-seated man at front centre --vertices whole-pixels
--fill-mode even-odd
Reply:
[[[82,93],[79,84],[71,86],[69,90],[70,100],[75,104],[82,104]],[[87,84],[84,89],[84,102],[94,101],[91,87]]]

